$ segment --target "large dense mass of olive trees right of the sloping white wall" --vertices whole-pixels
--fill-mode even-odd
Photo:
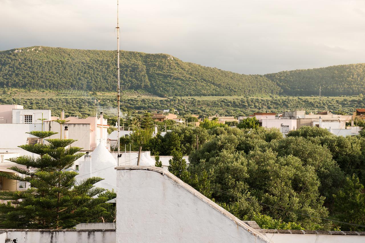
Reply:
[[[363,224],[364,138],[303,130],[284,138],[277,129],[212,128],[208,140],[189,155],[190,184],[202,193],[206,188],[204,195],[240,219],[268,228],[343,228],[320,218]],[[352,194],[342,183],[349,173],[360,177]],[[202,187],[194,178],[204,174],[209,183]],[[357,209],[347,205],[351,219],[340,213],[344,208],[332,206],[341,195],[354,195],[348,203]]]

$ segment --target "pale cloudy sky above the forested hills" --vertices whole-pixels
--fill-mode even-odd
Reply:
[[[116,50],[116,0],[0,0],[0,50]],[[243,74],[365,62],[364,0],[119,1],[122,50]]]

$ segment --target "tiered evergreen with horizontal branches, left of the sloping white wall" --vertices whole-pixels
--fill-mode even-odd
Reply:
[[[46,138],[53,132],[30,132]],[[72,139],[46,139],[49,144],[21,145],[28,152],[40,157],[20,156],[9,161],[25,165],[30,170],[12,166],[12,171],[24,177],[1,172],[8,179],[25,181],[31,188],[24,191],[0,191],[0,199],[9,200],[0,204],[1,228],[72,228],[80,222],[97,219],[105,212],[105,197],[93,196],[105,191],[93,184],[103,180],[90,177],[79,183],[77,173],[67,170],[74,161],[83,156],[80,148],[70,147]]]

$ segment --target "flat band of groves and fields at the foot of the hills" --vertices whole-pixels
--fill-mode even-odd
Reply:
[[[20,95],[20,99],[19,99]],[[96,100],[96,104],[95,104]],[[0,89],[0,104],[19,104],[29,109],[50,109],[58,115],[61,109],[67,115],[87,117],[103,111],[107,115],[116,114],[115,92],[89,91],[37,91]],[[176,109],[179,114],[202,115],[249,115],[257,111],[283,112],[290,110],[321,111],[331,110],[352,114],[356,108],[364,108],[362,95],[343,97],[292,97],[292,96],[199,96],[161,98],[136,91],[123,92],[121,110],[142,113],[145,110]]]

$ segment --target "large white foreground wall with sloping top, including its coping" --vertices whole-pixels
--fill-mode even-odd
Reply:
[[[161,168],[117,167],[117,190],[118,243],[269,242]]]

